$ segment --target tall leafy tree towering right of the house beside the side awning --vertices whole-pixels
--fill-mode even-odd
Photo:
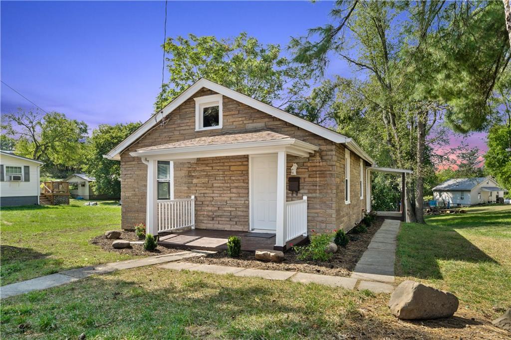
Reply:
[[[442,138],[434,134],[436,122],[445,119],[462,132],[488,122],[495,84],[509,58],[502,25],[495,25],[503,15],[497,7],[338,2],[331,12],[337,26],[311,29],[290,43],[294,60],[318,76],[329,53],[361,75],[341,81],[338,123],[355,119],[347,129],[362,132],[351,134],[362,145],[378,144],[367,150],[383,151],[387,163],[380,165],[414,170],[414,190],[407,190],[411,221],[424,223],[424,182],[432,169],[431,150]],[[362,108],[353,98],[363,101]],[[339,129],[347,132],[346,126]]]

